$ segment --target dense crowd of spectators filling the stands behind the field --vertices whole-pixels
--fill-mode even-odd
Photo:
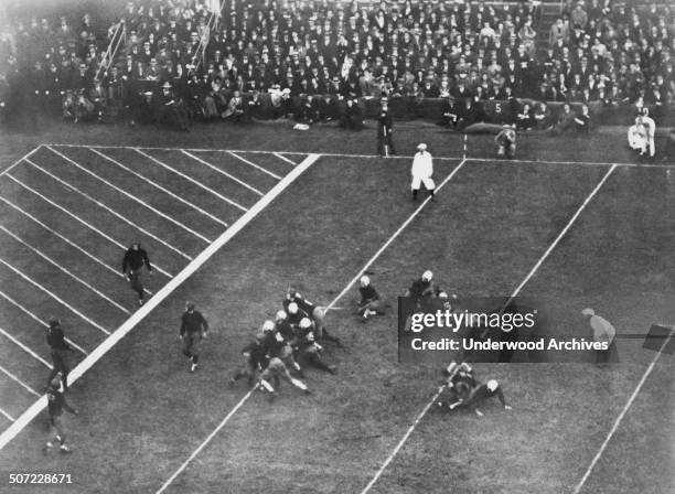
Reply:
[[[363,100],[383,95],[413,107],[441,98],[444,122],[459,127],[483,120],[550,127],[550,110],[536,101],[673,103],[671,6],[568,0],[547,47],[537,44],[538,9],[539,2],[136,0],[125,8],[125,39],[106,71],[99,66],[117,22],[106,30],[89,14],[77,22],[61,17],[57,25],[19,17],[2,29],[0,93],[6,100],[12,86],[30,89],[33,105],[61,106],[74,120],[119,107],[133,121],[178,127],[191,118],[293,115],[358,128]],[[212,22],[212,12],[222,17]]]

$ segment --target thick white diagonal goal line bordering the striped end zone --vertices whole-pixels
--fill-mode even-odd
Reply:
[[[281,192],[283,192],[298,176],[312,165],[320,154],[310,154],[297,168],[277,183],[260,201],[242,215],[227,230],[225,230],[213,244],[203,253],[194,258],[175,278],[169,281],[154,297],[146,302],[127,321],[122,323],[110,336],[108,336],[94,352],[82,361],[68,374],[68,383],[72,385],[79,379],[94,364],[96,364],[106,353],[108,353],[127,333],[150,313],[156,307],[164,301],[183,281],[202,267],[215,253],[227,244],[237,233],[248,225],[269,203],[271,203]],[[0,434],[0,450],[2,450],[13,438],[19,434],[46,406],[46,397],[42,396],[29,407],[21,417]]]

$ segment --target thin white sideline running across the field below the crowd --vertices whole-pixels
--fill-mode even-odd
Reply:
[[[49,146],[57,146],[62,148],[110,148],[110,149],[136,149],[130,146],[84,146],[84,144],[49,144]],[[260,151],[260,150],[249,150],[249,149],[212,149],[212,148],[152,148],[152,147],[142,147],[138,149],[149,149],[157,151],[181,151],[185,149],[185,151],[191,152],[245,152],[249,154],[274,154],[274,153],[283,153],[291,155],[307,155],[306,151]],[[322,157],[335,157],[335,158],[367,158],[367,159],[385,159],[379,154],[350,154],[350,153],[339,153],[339,152],[322,152]],[[413,155],[389,155],[387,159],[389,160],[411,160]],[[436,161],[439,160],[452,160],[459,161],[462,160],[462,157],[433,157]],[[547,160],[511,160],[511,159],[500,159],[500,158],[467,158],[469,161],[485,161],[485,162],[496,162],[496,163],[533,163],[533,164],[576,164],[582,167],[611,167],[615,164],[617,167],[631,167],[631,168],[675,168],[675,164],[657,164],[657,163],[612,163],[606,161],[547,161]]]

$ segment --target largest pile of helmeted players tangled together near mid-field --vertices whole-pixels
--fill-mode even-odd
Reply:
[[[336,367],[323,357],[325,342],[341,347],[340,339],[331,335],[324,324],[325,308],[314,305],[294,289],[289,288],[275,320],[262,323],[255,339],[242,351],[244,363],[231,377],[234,386],[242,378],[250,388],[268,394],[274,400],[281,379],[304,394],[304,368],[314,367],[335,374]]]

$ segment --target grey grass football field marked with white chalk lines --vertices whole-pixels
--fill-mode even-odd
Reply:
[[[144,277],[148,289],[164,293],[226,225],[247,223],[73,386],[74,453],[42,455],[40,415],[0,451],[4,477],[71,473],[73,484],[49,492],[77,493],[675,491],[671,355],[620,340],[622,363],[611,368],[476,365],[480,378],[503,383],[514,410],[447,416],[426,408],[439,369],[397,363],[396,314],[367,324],[351,315],[351,283],[363,270],[394,300],[432,269],[461,297],[517,290],[536,298],[560,331],[585,331],[585,307],[619,333],[673,325],[671,163],[632,165],[611,132],[524,138],[522,162],[492,160],[491,138],[470,136],[464,159],[461,136],[401,126],[401,154],[424,140],[449,157],[435,163],[437,201],[420,204],[408,196],[409,159],[371,157],[367,131],[68,129],[45,125],[3,138],[15,150],[8,165],[39,144],[78,144],[42,146],[0,179],[0,365],[38,395],[49,372],[46,319],[61,316],[92,353],[137,310],[117,275],[132,239],[164,271]],[[321,155],[310,163],[308,153]],[[344,308],[328,325],[345,348],[326,345],[339,373],[310,370],[311,396],[283,386],[269,404],[227,379],[289,282]],[[214,329],[194,374],[176,339],[188,299]],[[36,399],[4,373],[0,386],[11,418]]]

